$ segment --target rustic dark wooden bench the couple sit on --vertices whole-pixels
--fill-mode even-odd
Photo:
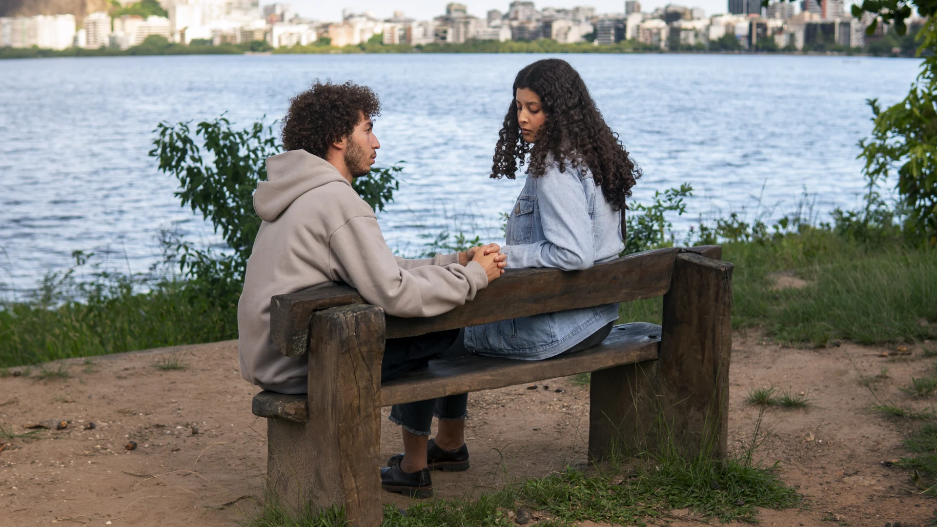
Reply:
[[[587,371],[590,459],[653,450],[662,427],[687,454],[713,444],[707,454],[724,457],[732,264],[720,260],[718,246],[662,248],[584,271],[509,270],[432,318],[385,316],[347,286],[274,296],[272,338],[283,354],[308,354],[309,390],[254,398],[254,414],[268,417],[269,484],[294,510],[344,505],[352,525],[377,527],[381,406]],[[380,383],[384,339],[655,296],[663,296],[662,326],[616,326],[579,354],[440,359]]]

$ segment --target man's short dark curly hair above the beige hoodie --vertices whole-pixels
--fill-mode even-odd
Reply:
[[[290,99],[290,111],[283,118],[283,146],[324,159],[329,145],[348,137],[361,122],[362,113],[365,117],[380,114],[380,101],[371,88],[350,81],[333,84],[317,80]]]

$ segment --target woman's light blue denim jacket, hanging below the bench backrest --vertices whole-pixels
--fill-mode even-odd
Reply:
[[[528,175],[505,229],[508,268],[587,269],[617,258],[621,213],[605,201],[592,173],[560,172],[548,164],[540,177]],[[510,302],[510,298],[505,298]],[[489,356],[541,360],[569,350],[618,318],[618,305],[569,309],[467,327],[469,351]]]

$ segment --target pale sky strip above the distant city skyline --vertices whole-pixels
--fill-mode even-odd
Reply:
[[[446,0],[280,0],[289,3],[301,15],[322,21],[340,20],[343,8],[352,8],[355,11],[371,10],[379,18],[388,18],[400,9],[410,18],[429,20],[445,11]],[[261,4],[272,4],[274,0],[261,0]],[[511,0],[462,0],[468,6],[468,12],[484,18],[488,9],[498,9],[501,12],[508,10]],[[724,13],[728,5],[727,0],[682,0],[670,2],[668,0],[641,0],[641,9],[652,11],[665,4],[675,3],[686,5],[689,8],[703,8],[706,15]],[[575,6],[591,6],[597,13],[623,13],[624,0],[535,0],[534,5],[540,9],[573,8]]]

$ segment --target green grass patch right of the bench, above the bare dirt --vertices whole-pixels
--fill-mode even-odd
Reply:
[[[766,241],[730,242],[722,259],[735,264],[736,328],[761,326],[791,344],[830,339],[864,344],[935,337],[937,250],[893,240],[870,245],[825,229]],[[778,289],[773,275],[794,273],[802,288]],[[662,322],[662,299],[621,304],[620,322]]]

